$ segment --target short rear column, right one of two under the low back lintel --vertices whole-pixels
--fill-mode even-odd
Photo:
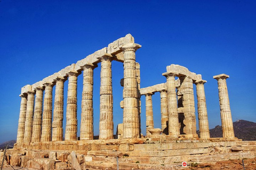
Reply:
[[[168,133],[168,103],[167,103],[167,91],[161,90],[160,98],[161,98],[161,124],[162,124],[162,131],[163,134]]]

